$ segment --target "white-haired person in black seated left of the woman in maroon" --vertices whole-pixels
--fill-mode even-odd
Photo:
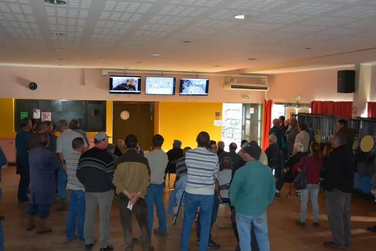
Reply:
[[[300,159],[305,156],[303,153],[303,144],[295,143],[292,149],[292,155],[285,162],[285,169],[282,171],[281,175],[278,177],[275,183],[275,196],[279,197],[280,191],[283,187],[284,182],[291,183],[294,181],[292,167],[300,162]]]

